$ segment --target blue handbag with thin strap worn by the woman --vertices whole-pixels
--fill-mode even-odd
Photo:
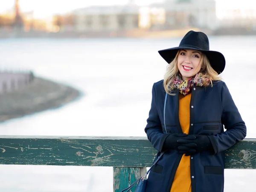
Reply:
[[[164,128],[167,134],[167,129],[166,129],[166,122],[165,122],[165,109],[166,109],[166,101],[167,101],[167,96],[168,93],[166,93],[165,99],[164,99],[164,106],[163,106],[163,119],[164,119]],[[148,171],[146,172],[146,174],[144,175],[144,177],[140,177],[138,178],[134,183],[131,184],[131,186],[129,186],[126,189],[123,189],[121,192],[128,192],[131,188],[133,188],[135,186],[136,183],[137,187],[135,189],[134,192],[145,192],[145,188],[146,188],[146,183],[147,183],[147,179],[146,176],[148,175],[148,173],[150,172],[150,170],[152,169],[152,167],[157,163],[157,161],[162,157],[164,152],[162,152],[158,157],[157,160],[155,160],[155,162],[153,163],[153,165],[148,169]]]

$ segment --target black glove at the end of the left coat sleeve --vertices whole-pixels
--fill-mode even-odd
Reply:
[[[174,133],[174,134],[169,134],[169,136],[166,137],[164,143],[163,143],[163,150],[166,149],[176,149],[178,150],[178,146],[183,145],[183,143],[179,143],[179,140],[185,139],[186,141],[188,140],[194,140],[195,136],[190,136],[187,134],[179,134],[179,133]],[[192,141],[190,141],[192,142]],[[195,144],[193,144],[194,146]]]

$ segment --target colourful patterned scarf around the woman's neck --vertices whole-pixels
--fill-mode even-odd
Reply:
[[[180,90],[180,93],[186,96],[191,93],[192,86],[202,87],[209,83],[209,78],[202,77],[202,73],[197,73],[195,76],[191,77],[189,80],[183,81],[180,76],[175,77],[172,81],[173,87]],[[205,83],[204,81],[205,80]]]

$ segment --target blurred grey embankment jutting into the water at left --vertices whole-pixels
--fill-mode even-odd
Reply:
[[[0,122],[61,107],[80,94],[73,87],[35,77],[32,71],[2,71]]]

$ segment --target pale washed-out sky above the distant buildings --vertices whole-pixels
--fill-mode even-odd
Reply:
[[[23,13],[34,11],[35,18],[45,18],[86,6],[122,5],[129,1],[134,1],[141,6],[163,2],[163,0],[20,0],[20,9]],[[216,2],[217,17],[221,17],[227,9],[256,10],[256,0],[216,0]],[[0,0],[0,14],[12,11],[14,3],[15,0]]]

